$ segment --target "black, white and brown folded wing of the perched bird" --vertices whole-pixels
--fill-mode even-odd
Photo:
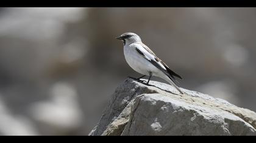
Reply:
[[[182,79],[182,77],[180,75],[178,75],[177,73],[174,73],[174,71],[172,71],[168,67],[168,65],[165,64],[165,62],[163,62],[161,59],[159,59],[155,55],[155,53],[152,52],[152,50],[148,46],[143,44],[142,42],[136,44],[135,49],[137,50],[138,53],[140,53],[140,55],[142,55],[144,58],[148,59],[149,62],[151,62],[153,65],[155,65],[160,70],[162,70],[166,75],[171,76],[174,80],[176,80],[174,76]]]

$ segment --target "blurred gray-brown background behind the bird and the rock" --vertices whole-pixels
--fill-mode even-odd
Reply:
[[[140,76],[115,39],[124,32],[180,87],[256,111],[255,25],[256,8],[0,8],[0,135],[88,135],[115,88]]]

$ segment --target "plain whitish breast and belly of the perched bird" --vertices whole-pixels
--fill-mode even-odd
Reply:
[[[124,48],[124,57],[126,58],[127,64],[130,67],[141,73],[142,75],[149,75],[149,73],[155,73],[158,68],[152,65],[147,59],[143,58],[143,56],[139,55],[137,51],[132,48]]]

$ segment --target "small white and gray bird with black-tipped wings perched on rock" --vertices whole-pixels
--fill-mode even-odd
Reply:
[[[146,85],[149,85],[151,77],[157,76],[169,82],[169,84],[175,87],[180,94],[184,94],[184,92],[180,90],[180,88],[174,82],[176,81],[176,78],[182,79],[182,77],[172,71],[168,65],[159,59],[147,45],[143,44],[140,36],[132,32],[127,32],[116,37],[116,39],[123,41],[124,57],[127,64],[133,70],[143,75],[140,78],[133,79],[141,81],[140,79],[144,76],[149,76],[148,82],[146,82]],[[132,77],[129,76],[129,78]]]

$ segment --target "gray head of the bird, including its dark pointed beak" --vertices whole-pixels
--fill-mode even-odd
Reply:
[[[129,45],[133,42],[141,42],[140,36],[131,32],[123,33],[123,35],[119,36],[116,39],[122,40],[124,42],[124,45]]]

